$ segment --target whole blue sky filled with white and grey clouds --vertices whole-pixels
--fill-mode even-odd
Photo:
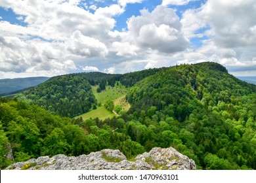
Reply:
[[[1,0],[0,78],[214,61],[256,76],[255,0]]]

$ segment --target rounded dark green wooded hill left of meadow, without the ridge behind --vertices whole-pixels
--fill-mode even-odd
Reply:
[[[60,116],[74,117],[91,110],[95,96],[86,78],[76,75],[53,77],[15,97]]]

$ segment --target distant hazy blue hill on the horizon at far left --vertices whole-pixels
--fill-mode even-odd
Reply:
[[[30,88],[47,80],[49,80],[48,77],[0,79],[0,94]]]

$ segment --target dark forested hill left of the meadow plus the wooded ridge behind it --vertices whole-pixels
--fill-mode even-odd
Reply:
[[[131,87],[162,69],[148,69],[125,75],[92,72],[55,76],[39,86],[25,90],[15,98],[39,105],[60,116],[74,117],[96,108],[97,101],[91,86],[98,85],[104,90],[106,86],[114,87],[116,81],[120,81],[124,86]]]

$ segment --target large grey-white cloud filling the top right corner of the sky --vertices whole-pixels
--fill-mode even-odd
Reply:
[[[205,3],[202,14],[215,33],[217,44],[227,48],[256,46],[254,3],[253,0],[210,0]]]

